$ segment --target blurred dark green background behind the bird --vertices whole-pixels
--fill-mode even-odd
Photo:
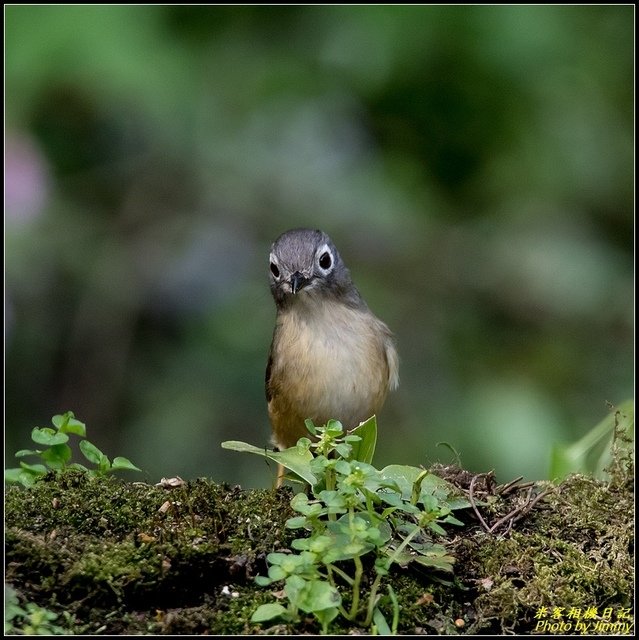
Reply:
[[[634,7],[5,6],[5,444],[270,486],[271,242],[394,330],[375,462],[548,473],[634,394]],[[141,479],[139,474],[135,476]]]

